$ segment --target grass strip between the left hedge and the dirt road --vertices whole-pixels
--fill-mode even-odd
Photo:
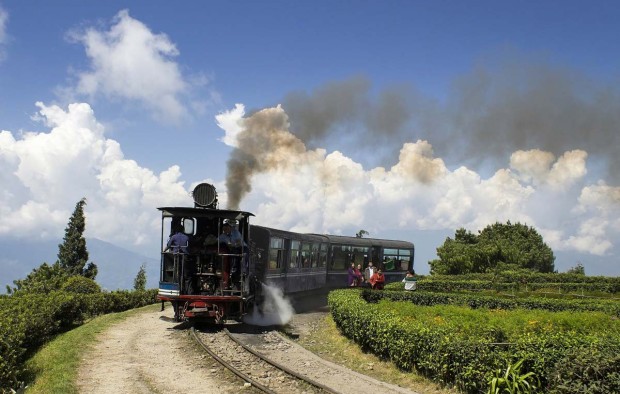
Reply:
[[[59,335],[44,345],[30,360],[27,368],[34,376],[27,393],[77,393],[80,361],[97,341],[97,335],[115,323],[142,312],[161,308],[153,304],[121,313],[99,316],[88,323]]]

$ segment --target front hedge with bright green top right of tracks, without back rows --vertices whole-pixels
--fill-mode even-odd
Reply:
[[[620,392],[615,314],[472,307],[443,298],[419,305],[421,298],[403,293],[337,290],[329,306],[339,331],[360,349],[442,387],[464,393]],[[512,383],[499,379],[506,373],[518,376]],[[494,379],[499,391],[490,390]]]

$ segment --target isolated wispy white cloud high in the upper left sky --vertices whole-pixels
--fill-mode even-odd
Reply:
[[[173,60],[179,55],[176,45],[127,10],[114,17],[107,31],[88,28],[69,37],[84,45],[91,62],[89,71],[78,74],[74,93],[137,101],[164,121],[187,116],[188,108],[204,107],[204,103],[185,101],[192,86],[207,83],[205,77],[185,77]]]

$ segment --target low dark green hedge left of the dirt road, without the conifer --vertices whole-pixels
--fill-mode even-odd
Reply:
[[[156,302],[157,289],[92,293],[92,286],[75,285],[69,287],[74,291],[77,288],[77,293],[54,291],[0,297],[0,392],[26,380],[24,362],[55,335],[97,315]]]

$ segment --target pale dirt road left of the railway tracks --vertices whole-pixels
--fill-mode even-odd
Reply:
[[[129,317],[101,334],[78,372],[81,393],[238,393],[243,382],[198,355],[187,332],[175,330],[171,309]],[[162,319],[163,318],[163,319]],[[165,320],[164,320],[165,319]],[[222,382],[224,380],[224,382]]]

